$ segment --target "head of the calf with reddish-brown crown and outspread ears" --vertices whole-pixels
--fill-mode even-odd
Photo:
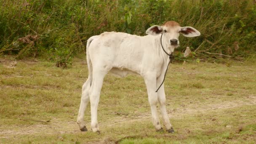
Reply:
[[[154,25],[147,29],[146,34],[148,35],[161,35],[162,43],[168,45],[171,52],[174,51],[174,48],[179,46],[179,34],[184,35],[185,37],[196,37],[200,35],[200,32],[193,27],[180,27],[179,24],[175,21],[167,21],[163,26]]]

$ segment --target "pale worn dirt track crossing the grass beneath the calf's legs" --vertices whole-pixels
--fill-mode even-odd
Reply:
[[[197,107],[189,108],[189,107],[180,107],[175,111],[169,110],[169,116],[175,118],[181,118],[185,115],[193,115],[197,114],[198,112],[205,113],[208,111],[214,111],[216,109],[230,109],[235,107],[240,107],[244,105],[256,105],[256,96],[248,96],[245,97],[245,101],[223,101],[219,104],[207,104],[207,105],[197,105]],[[160,115],[159,115],[160,116]],[[134,115],[132,117],[126,116],[119,116],[116,117],[114,120],[109,119],[104,122],[99,123],[99,125],[107,125],[110,126],[118,126],[122,124],[134,123],[136,121],[144,121],[144,120],[151,120],[151,113],[143,113],[138,115]],[[38,122],[40,123],[40,122]],[[88,129],[90,129],[90,122],[86,122]],[[7,126],[7,125],[5,125]],[[2,127],[2,128],[1,128]],[[19,135],[26,135],[26,134],[63,134],[63,133],[81,133],[77,123],[74,121],[63,121],[59,120],[58,118],[51,120],[47,124],[38,124],[38,125],[23,125],[15,128],[11,128],[6,130],[3,128],[3,125],[0,125],[0,138],[10,138]]]

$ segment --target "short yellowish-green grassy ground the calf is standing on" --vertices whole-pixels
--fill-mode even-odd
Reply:
[[[173,134],[155,132],[141,77],[107,75],[98,108],[98,135],[90,131],[90,106],[85,111],[89,131],[80,132],[75,123],[81,86],[88,76],[84,59],[75,59],[68,69],[44,60],[21,60],[8,68],[11,56],[0,61],[0,143],[256,142],[252,62],[171,64],[165,93]]]

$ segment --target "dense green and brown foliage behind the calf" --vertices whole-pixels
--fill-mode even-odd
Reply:
[[[187,46],[200,59],[255,56],[255,0],[0,0],[0,54],[69,63],[92,35],[145,35],[169,20],[201,32],[180,37],[177,60]]]

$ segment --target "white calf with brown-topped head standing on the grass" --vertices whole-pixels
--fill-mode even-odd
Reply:
[[[180,27],[175,21],[168,21],[163,26],[152,26],[146,36],[130,35],[123,32],[104,32],[90,37],[86,45],[89,76],[83,84],[77,123],[81,131],[87,131],[84,124],[84,111],[90,99],[91,130],[99,132],[97,108],[103,79],[108,72],[124,77],[129,73],[139,74],[147,86],[152,122],[157,131],[163,131],[157,116],[157,102],[160,103],[163,124],[166,131],[173,133],[165,107],[165,91],[161,84],[168,66],[168,55],[179,46],[179,34],[186,37],[199,36],[200,32],[192,27]]]

